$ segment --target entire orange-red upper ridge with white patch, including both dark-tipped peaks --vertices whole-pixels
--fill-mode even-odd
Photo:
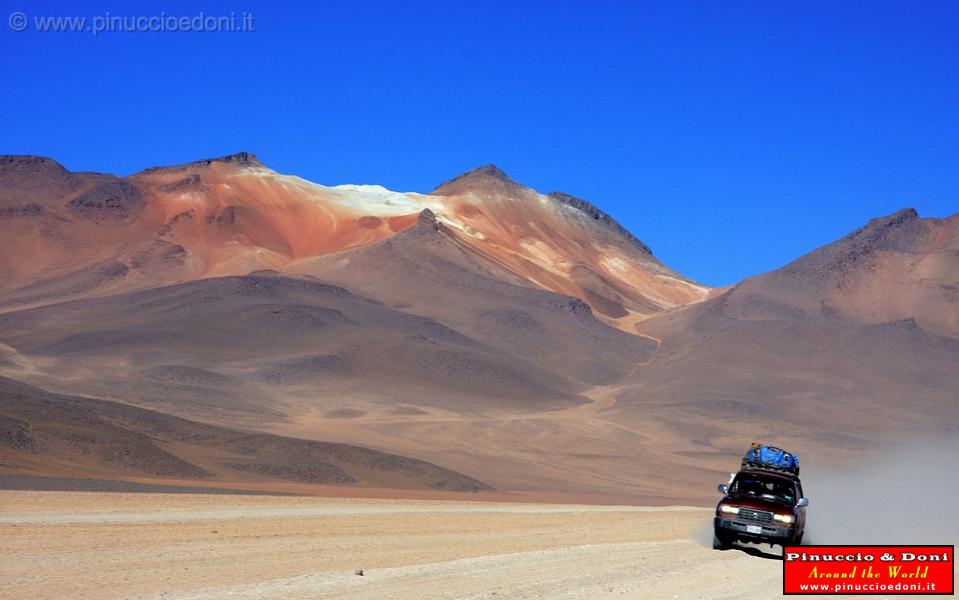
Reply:
[[[0,157],[0,184],[0,234],[19,248],[15,261],[0,258],[0,302],[8,305],[27,296],[44,301],[18,290],[58,278],[83,280],[74,292],[84,296],[283,270],[396,235],[423,210],[525,285],[576,296],[626,331],[708,291],[653,258],[594,205],[541,195],[492,165],[453,178],[435,195],[313,184],[276,173],[249,152],[128,177],[72,173],[43,157]],[[107,264],[123,266],[102,278]]]

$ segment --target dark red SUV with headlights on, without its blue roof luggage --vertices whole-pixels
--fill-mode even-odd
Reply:
[[[751,464],[719,491],[723,499],[716,505],[713,548],[725,549],[737,540],[780,546],[802,542],[809,499],[798,475]]]

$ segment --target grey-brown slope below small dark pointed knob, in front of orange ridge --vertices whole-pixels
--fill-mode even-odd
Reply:
[[[606,327],[580,300],[520,285],[463,237],[424,211],[415,227],[394,237],[288,270],[437,319],[587,384],[622,378],[652,356],[654,342]]]

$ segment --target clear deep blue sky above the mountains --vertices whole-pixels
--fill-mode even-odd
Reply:
[[[710,284],[959,211],[956,2],[137,4],[2,3],[0,153],[129,174],[249,150],[414,191],[492,162]],[[8,23],[161,10],[255,32]]]

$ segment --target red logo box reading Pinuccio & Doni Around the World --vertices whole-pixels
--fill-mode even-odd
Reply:
[[[955,546],[786,546],[783,594],[951,595]]]

